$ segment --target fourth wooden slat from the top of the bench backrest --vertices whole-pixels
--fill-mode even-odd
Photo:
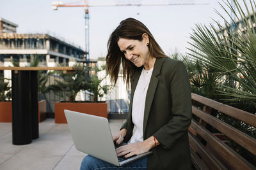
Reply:
[[[221,162],[216,159],[214,155],[212,155],[211,152],[209,152],[202,143],[198,139],[193,136],[193,134],[189,133],[189,143],[195,148],[196,152],[202,157],[204,162],[207,162],[207,165],[211,169],[227,169]]]

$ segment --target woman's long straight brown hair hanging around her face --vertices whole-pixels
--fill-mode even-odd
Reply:
[[[134,18],[127,18],[122,20],[115,31],[109,36],[108,39],[108,54],[106,56],[106,73],[110,75],[111,82],[116,84],[118,73],[120,71],[120,64],[122,63],[122,73],[124,81],[128,87],[132,73],[138,69],[131,61],[125,58],[124,53],[120,51],[117,42],[119,38],[136,39],[142,41],[142,35],[148,34],[149,55],[151,57],[161,58],[167,57],[161,47],[157,44],[148,28],[140,21]]]

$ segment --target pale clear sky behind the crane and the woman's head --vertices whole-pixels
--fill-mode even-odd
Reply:
[[[167,55],[175,51],[189,52],[189,36],[196,24],[209,25],[213,23],[212,18],[221,22],[215,10],[227,16],[217,0],[205,1],[209,4],[89,8],[90,59],[106,56],[109,35],[122,20],[129,17],[143,22]],[[63,1],[72,2],[74,0]],[[223,4],[222,1],[220,3]],[[0,17],[18,24],[17,33],[49,33],[84,49],[83,7],[52,10],[52,0],[0,0]]]

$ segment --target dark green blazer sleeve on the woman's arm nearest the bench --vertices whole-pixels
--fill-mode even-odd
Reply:
[[[183,62],[177,61],[170,66],[170,98],[172,119],[163,125],[154,136],[167,149],[188,132],[191,123],[191,87],[188,73]]]

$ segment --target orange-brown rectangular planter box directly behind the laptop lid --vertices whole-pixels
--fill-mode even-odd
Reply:
[[[108,103],[55,103],[55,123],[67,124],[64,110],[108,118]]]

